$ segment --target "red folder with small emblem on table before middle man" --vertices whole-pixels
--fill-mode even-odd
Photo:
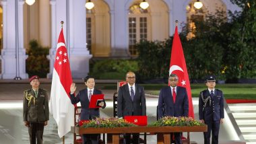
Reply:
[[[146,126],[148,124],[147,116],[125,116],[125,120],[139,126]]]

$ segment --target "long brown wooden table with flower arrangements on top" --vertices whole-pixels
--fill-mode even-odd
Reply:
[[[97,134],[107,133],[112,135],[112,141],[108,139],[107,143],[119,143],[119,134],[121,133],[155,133],[162,135],[158,138],[157,143],[170,143],[170,133],[177,132],[205,132],[207,126],[193,126],[193,127],[117,127],[117,128],[83,128],[71,127],[71,133],[82,134]]]

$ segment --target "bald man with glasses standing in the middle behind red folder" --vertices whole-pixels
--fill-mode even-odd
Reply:
[[[119,87],[117,97],[117,116],[146,116],[144,87],[135,83],[135,73],[126,74],[127,84]],[[125,134],[124,143],[131,143],[131,134]],[[133,143],[139,143],[139,134],[133,133]]]

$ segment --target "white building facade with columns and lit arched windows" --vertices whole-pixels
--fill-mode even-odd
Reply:
[[[165,40],[174,33],[176,20],[181,31],[181,23],[194,28],[193,20],[203,20],[208,13],[239,10],[230,0],[200,0],[201,9],[193,7],[196,0],[146,1],[150,6],[141,9],[141,0],[92,0],[94,7],[89,10],[86,0],[36,0],[33,5],[2,0],[1,79],[28,77],[26,48],[32,39],[51,48],[51,77],[61,21],[73,78],[81,78],[87,75],[92,57],[136,57],[136,42]]]

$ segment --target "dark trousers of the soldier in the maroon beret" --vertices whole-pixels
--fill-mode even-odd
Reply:
[[[30,122],[28,125],[30,134],[30,144],[42,144],[42,135],[44,133],[44,122]]]

